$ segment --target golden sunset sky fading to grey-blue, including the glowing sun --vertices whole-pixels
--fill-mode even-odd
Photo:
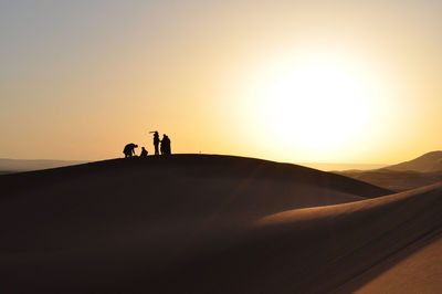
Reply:
[[[0,1],[0,157],[442,149],[442,1]]]

